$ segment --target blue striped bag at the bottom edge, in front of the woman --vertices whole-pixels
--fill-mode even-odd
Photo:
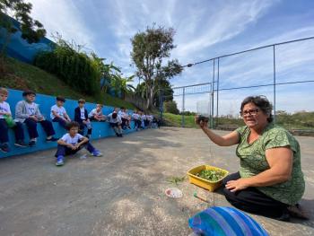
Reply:
[[[194,215],[188,226],[197,235],[268,236],[266,230],[248,214],[229,206],[214,206]]]

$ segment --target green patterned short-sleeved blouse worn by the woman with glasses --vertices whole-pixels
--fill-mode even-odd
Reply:
[[[237,156],[240,158],[240,176],[248,178],[269,169],[266,160],[266,149],[289,146],[293,152],[291,179],[273,186],[257,187],[268,197],[287,205],[295,205],[301,200],[305,183],[301,170],[301,152],[298,141],[284,128],[273,123],[268,124],[262,135],[252,144],[248,143],[249,127],[236,129],[240,136]]]

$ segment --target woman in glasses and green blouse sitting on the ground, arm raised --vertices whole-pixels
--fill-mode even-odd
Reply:
[[[196,118],[196,123],[214,144],[238,145],[240,171],[222,181],[231,205],[283,221],[290,215],[306,218],[298,205],[305,188],[300,145],[287,130],[272,123],[271,111],[266,97],[248,97],[240,107],[246,126],[221,136],[206,122]]]

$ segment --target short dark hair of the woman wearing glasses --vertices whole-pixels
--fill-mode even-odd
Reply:
[[[245,98],[241,103],[240,112],[243,111],[243,108],[248,103],[254,103],[259,109],[263,111],[264,114],[268,116],[267,121],[270,123],[273,121],[272,109],[273,105],[267,100],[266,96],[249,96]]]

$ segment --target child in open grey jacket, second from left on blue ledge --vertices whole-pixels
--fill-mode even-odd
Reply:
[[[26,124],[26,127],[30,135],[30,146],[36,145],[37,137],[39,133],[37,131],[37,123],[40,123],[44,128],[47,135],[46,141],[57,141],[54,137],[55,130],[52,127],[50,121],[46,120],[40,113],[39,105],[34,101],[36,99],[36,93],[31,91],[25,91],[22,93],[24,101],[19,101],[15,107],[15,120]]]

